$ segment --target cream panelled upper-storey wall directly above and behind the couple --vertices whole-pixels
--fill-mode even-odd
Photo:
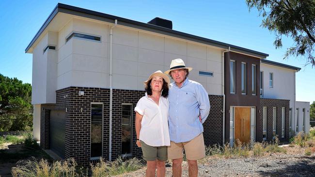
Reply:
[[[73,18],[59,31],[57,89],[109,88],[110,27]],[[72,31],[101,36],[101,42],[80,38],[65,42]],[[113,29],[112,87],[143,90],[150,74],[168,70],[177,58],[194,68],[189,79],[200,82],[209,94],[222,94],[221,50],[119,25]],[[198,71],[213,72],[214,77]]]

